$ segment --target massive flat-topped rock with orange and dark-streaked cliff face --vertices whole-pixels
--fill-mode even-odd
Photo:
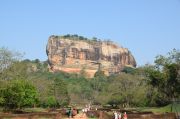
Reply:
[[[51,71],[80,73],[93,77],[98,70],[106,75],[118,73],[124,66],[136,67],[136,61],[127,48],[111,41],[82,40],[50,36],[46,48]]]

